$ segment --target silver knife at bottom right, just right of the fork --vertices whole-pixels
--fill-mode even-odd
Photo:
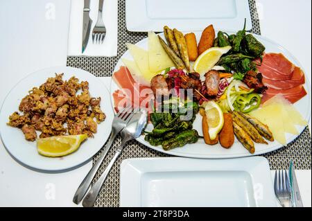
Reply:
[[[297,177],[295,174],[295,168],[293,166],[293,161],[291,161],[291,166],[289,166],[289,182],[291,184],[291,204],[293,207],[304,207],[302,203],[302,198],[300,195],[300,190],[297,182]]]

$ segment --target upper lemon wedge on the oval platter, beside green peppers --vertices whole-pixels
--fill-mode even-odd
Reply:
[[[204,51],[196,60],[193,65],[194,71],[203,76],[205,73],[211,70],[212,67],[216,65],[216,63],[220,60],[221,56],[229,50],[231,50],[231,46],[226,46],[223,48],[209,48]]]

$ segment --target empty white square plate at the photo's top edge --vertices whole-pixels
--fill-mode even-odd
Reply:
[[[133,32],[162,32],[164,26],[179,30],[252,28],[248,0],[126,0],[127,29]]]

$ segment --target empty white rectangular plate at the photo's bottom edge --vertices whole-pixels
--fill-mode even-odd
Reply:
[[[122,207],[276,205],[270,167],[264,157],[157,157],[121,163]]]

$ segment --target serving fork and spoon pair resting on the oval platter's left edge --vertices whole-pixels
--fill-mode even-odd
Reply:
[[[112,132],[110,134],[110,139],[108,139],[103,152],[98,158],[98,161],[96,161],[85,179],[83,179],[83,182],[81,182],[80,186],[78,187],[73,197],[74,203],[79,204],[83,200],[83,206],[89,207],[94,205],[96,197],[101,191],[101,187],[103,186],[108,173],[110,173],[114,162],[119,157],[119,154],[121,154],[123,151],[125,143],[132,139],[136,139],[141,135],[141,132],[146,127],[147,119],[148,115],[145,110],[134,109],[132,106],[125,107],[123,110],[121,110],[121,112],[116,114],[112,122]],[[101,177],[94,183],[91,188],[89,188],[91,186],[92,180],[94,179],[94,176],[98,172],[98,169],[103,163],[108,150],[110,150],[110,147],[119,132],[121,133],[122,138],[121,145],[119,145],[119,147],[116,149],[114,157],[111,159],[107,168],[105,168]]]

